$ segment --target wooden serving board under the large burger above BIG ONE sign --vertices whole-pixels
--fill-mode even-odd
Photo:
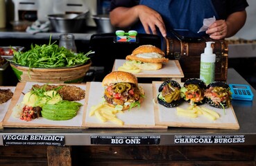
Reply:
[[[83,127],[89,128],[128,128],[128,129],[167,129],[167,126],[155,125],[155,115],[152,102],[152,84],[139,84],[145,91],[145,98],[140,107],[117,113],[117,118],[124,122],[123,125],[113,122],[101,122],[96,116],[89,116],[92,106],[103,102],[104,87],[101,82],[87,82],[85,96],[85,120]]]

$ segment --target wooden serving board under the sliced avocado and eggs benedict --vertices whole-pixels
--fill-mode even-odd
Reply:
[[[12,101],[10,103],[10,107],[6,113],[5,118],[3,119],[3,127],[28,127],[28,128],[78,128],[82,127],[83,123],[83,113],[85,111],[85,99],[76,101],[83,104],[80,107],[78,114],[72,118],[71,120],[47,120],[45,118],[36,118],[31,121],[20,120],[19,118],[15,118],[12,116],[12,109],[16,104],[22,102],[24,98],[24,94],[27,93],[33,84],[43,84],[37,82],[19,82],[17,84],[15,93],[12,97]],[[67,84],[67,85],[75,85],[80,87],[81,89],[86,89],[85,84]]]

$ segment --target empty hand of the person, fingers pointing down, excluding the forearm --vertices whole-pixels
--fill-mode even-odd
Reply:
[[[157,29],[159,28],[160,33],[163,37],[167,36],[167,31],[162,20],[161,15],[155,10],[148,8],[147,6],[137,6],[137,12],[139,20],[142,22],[144,30],[147,34],[151,32],[157,35]]]

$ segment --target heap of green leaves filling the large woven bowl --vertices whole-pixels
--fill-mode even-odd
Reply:
[[[13,59],[10,62],[19,64],[21,66],[28,66],[29,68],[58,68],[69,67],[79,64],[85,64],[90,58],[87,57],[89,53],[73,53],[65,47],[59,47],[56,42],[51,44],[51,37],[49,44],[42,46],[31,44],[31,50],[24,53],[16,51]]]

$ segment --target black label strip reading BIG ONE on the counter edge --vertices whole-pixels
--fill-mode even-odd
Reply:
[[[91,136],[92,145],[159,145],[160,136]]]

